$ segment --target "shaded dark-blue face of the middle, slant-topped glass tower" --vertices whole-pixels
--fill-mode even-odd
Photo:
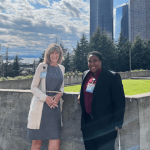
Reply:
[[[128,4],[122,6],[121,29],[123,37],[129,39]]]

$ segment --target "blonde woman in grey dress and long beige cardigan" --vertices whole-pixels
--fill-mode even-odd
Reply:
[[[48,46],[44,62],[35,72],[27,125],[28,138],[32,140],[31,150],[40,150],[42,140],[49,140],[48,150],[59,150],[65,72],[64,66],[60,65],[62,58],[59,45]]]

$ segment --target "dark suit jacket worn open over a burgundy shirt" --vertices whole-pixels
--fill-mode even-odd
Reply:
[[[85,129],[86,111],[84,105],[83,85],[89,70],[83,73],[80,91],[81,130]],[[114,130],[122,128],[125,112],[125,95],[121,77],[118,73],[102,69],[93,91],[92,116],[95,130]]]

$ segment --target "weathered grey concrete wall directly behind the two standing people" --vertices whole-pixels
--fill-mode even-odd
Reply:
[[[65,93],[63,96],[60,150],[84,150],[77,95]],[[0,150],[30,150],[26,125],[31,97],[29,90],[0,90]],[[120,150],[119,141],[121,150],[149,150],[149,114],[150,93],[126,96],[124,125],[119,130],[116,150]],[[48,141],[44,141],[41,150],[47,150],[47,146]]]

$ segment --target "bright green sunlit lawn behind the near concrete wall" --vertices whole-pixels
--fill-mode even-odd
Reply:
[[[150,80],[122,80],[125,95],[136,95],[150,92]],[[81,85],[67,86],[65,92],[79,92]]]

